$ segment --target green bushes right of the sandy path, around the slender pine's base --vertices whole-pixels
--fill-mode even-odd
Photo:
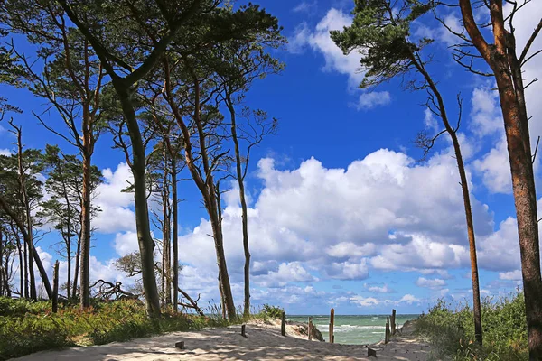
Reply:
[[[526,360],[528,359],[525,301],[523,292],[481,305],[483,347],[474,343],[472,309],[437,301],[429,313],[416,322],[417,331],[429,338],[435,356],[454,360]]]

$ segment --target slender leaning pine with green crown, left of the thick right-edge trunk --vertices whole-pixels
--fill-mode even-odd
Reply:
[[[449,134],[453,143],[453,151],[457,160],[457,168],[463,190],[467,235],[469,237],[472,295],[474,304],[474,329],[476,341],[482,342],[480,287],[478,282],[478,264],[476,259],[476,243],[472,223],[471,199],[469,184],[465,173],[463,155],[457,137],[461,122],[462,103],[458,97],[459,119],[456,125],[451,125],[444,106],[444,97],[425,65],[422,49],[432,42],[423,38],[414,42],[410,38],[410,25],[423,14],[431,10],[431,5],[416,0],[355,0],[353,23],[342,31],[331,32],[332,40],[341,47],[345,54],[359,51],[361,69],[366,71],[365,79],[360,88],[370,88],[388,81],[389,79],[406,76],[414,72],[416,79],[408,82],[410,88],[425,89],[429,94],[426,106],[444,125],[444,130],[435,136],[420,134],[416,143],[425,149],[426,153],[433,147],[436,138],[441,134]]]

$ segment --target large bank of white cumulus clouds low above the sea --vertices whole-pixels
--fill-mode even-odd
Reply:
[[[365,280],[371,270],[419,271],[445,280],[452,278],[447,269],[470,264],[463,197],[447,155],[416,163],[404,153],[382,149],[345,169],[328,169],[312,158],[291,170],[278,169],[266,158],[258,162],[257,177],[263,189],[248,209],[248,231],[251,272],[260,288]],[[492,215],[473,196],[472,209],[481,250],[490,252],[483,245],[491,245],[484,241],[493,235]],[[244,255],[238,202],[230,202],[223,216],[230,277],[240,283]],[[209,221],[202,218],[181,237],[181,260],[216,281],[210,233]],[[127,244],[121,242],[124,236],[129,238],[118,236],[119,249]],[[371,287],[381,288],[371,292],[390,291]]]

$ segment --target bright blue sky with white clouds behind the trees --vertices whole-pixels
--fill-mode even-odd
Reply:
[[[400,79],[361,90],[360,54],[348,56],[329,31],[351,23],[351,0],[256,2],[276,15],[288,44],[274,52],[285,62],[278,75],[257,81],[246,99],[278,119],[278,133],[254,151],[247,177],[248,232],[253,304],[276,304],[290,314],[420,313],[438,298],[472,303],[472,282],[463,198],[453,150],[444,134],[425,159],[413,141],[422,130],[436,134],[440,120],[423,104],[424,92],[406,90]],[[451,28],[460,26],[453,8],[440,9]],[[522,49],[542,17],[531,2],[516,16]],[[482,296],[498,298],[520,287],[519,243],[508,153],[500,105],[492,79],[467,73],[453,62],[456,42],[432,15],[418,20],[413,38],[431,36],[428,66],[451,117],[463,98],[460,141],[471,190]],[[542,47],[539,38],[533,50]],[[24,45],[23,45],[24,48]],[[530,60],[525,78],[542,78],[542,57]],[[542,135],[542,82],[527,90],[533,144]],[[25,89],[0,87],[0,95],[22,115],[26,147],[70,144],[49,133],[32,115],[44,101]],[[60,125],[58,115],[47,116]],[[0,124],[0,153],[14,151],[14,138]],[[132,179],[124,154],[98,140],[93,163],[102,171],[94,220],[91,277],[129,284],[115,268],[137,250],[133,195],[121,193]],[[535,163],[538,170],[538,162]],[[185,178],[188,178],[185,177]],[[537,180],[539,172],[537,171]],[[191,181],[179,185],[180,286],[201,304],[216,303],[218,269],[210,223]],[[539,192],[538,188],[538,192]],[[243,247],[235,184],[225,196],[224,242],[236,305],[243,301]],[[539,201],[539,206],[542,205]],[[155,230],[154,236],[160,236]],[[54,232],[39,252],[51,270],[59,258]],[[66,264],[61,262],[61,277]]]

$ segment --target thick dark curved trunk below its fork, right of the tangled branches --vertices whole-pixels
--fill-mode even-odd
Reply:
[[[135,227],[137,228],[137,241],[141,255],[146,310],[149,317],[156,318],[160,316],[160,296],[158,295],[154,274],[154,240],[151,236],[146,198],[145,147],[135,117],[135,110],[132,106],[129,89],[120,83],[119,80],[114,81],[113,85],[117,90],[132,142],[133,162],[131,169],[134,174]]]

